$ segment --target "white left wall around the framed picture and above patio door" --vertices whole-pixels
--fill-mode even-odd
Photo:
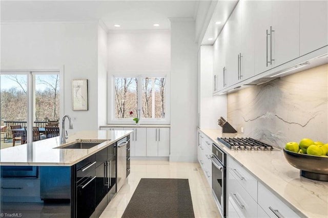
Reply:
[[[98,128],[97,34],[98,23],[1,25],[2,70],[64,67],[64,114],[76,118],[69,133]],[[89,111],[72,111],[72,79],[88,79]]]

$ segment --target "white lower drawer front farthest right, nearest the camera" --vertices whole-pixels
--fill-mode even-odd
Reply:
[[[258,193],[258,204],[267,214],[266,217],[299,217],[261,183],[258,183]]]

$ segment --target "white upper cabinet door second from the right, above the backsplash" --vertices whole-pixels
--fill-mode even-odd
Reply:
[[[274,32],[270,36],[272,46],[270,44],[269,46],[272,48],[273,67],[299,57],[299,12],[300,1],[273,1],[272,3]]]

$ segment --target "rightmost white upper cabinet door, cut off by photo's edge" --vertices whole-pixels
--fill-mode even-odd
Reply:
[[[300,2],[300,56],[328,45],[328,1]]]

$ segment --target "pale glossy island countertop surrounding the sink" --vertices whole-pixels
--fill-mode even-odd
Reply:
[[[70,134],[67,143],[82,140],[106,140],[89,149],[55,148],[60,138],[54,137],[0,150],[0,165],[72,166],[132,133],[131,130],[92,130]]]

